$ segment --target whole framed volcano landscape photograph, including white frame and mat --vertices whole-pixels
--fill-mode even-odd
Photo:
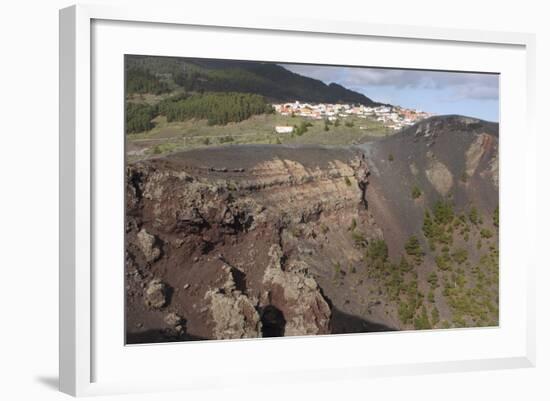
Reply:
[[[533,36],[73,6],[60,52],[62,391],[534,365]]]

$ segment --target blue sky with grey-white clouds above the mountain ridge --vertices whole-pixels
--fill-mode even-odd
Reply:
[[[335,82],[372,100],[436,114],[499,119],[497,74],[283,64],[297,74]]]

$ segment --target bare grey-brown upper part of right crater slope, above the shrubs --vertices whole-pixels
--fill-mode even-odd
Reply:
[[[402,244],[406,235],[420,232],[424,209],[437,200],[450,199],[461,210],[474,205],[486,219],[498,205],[496,123],[432,117],[363,149],[371,171],[371,210],[385,221],[390,243]],[[421,194],[412,201],[415,187]]]

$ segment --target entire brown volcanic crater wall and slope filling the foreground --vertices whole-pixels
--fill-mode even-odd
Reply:
[[[434,117],[126,173],[128,342],[498,324],[496,124]]]

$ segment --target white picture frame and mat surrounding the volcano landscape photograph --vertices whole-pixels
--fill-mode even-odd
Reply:
[[[117,25],[118,24],[118,25]],[[137,25],[136,25],[137,24]],[[502,124],[502,150],[501,150],[501,199],[506,196],[508,208],[501,207],[501,247],[503,244],[511,244],[516,239],[517,248],[507,253],[505,263],[514,269],[506,267],[501,283],[502,302],[514,303],[513,308],[503,308],[503,322],[499,328],[493,329],[464,329],[422,332],[422,333],[400,333],[397,334],[367,334],[367,335],[345,335],[345,336],[322,336],[317,338],[303,337],[291,339],[262,339],[231,342],[202,342],[201,344],[159,344],[154,346],[125,347],[121,341],[120,352],[109,352],[105,344],[118,344],[109,337],[102,329],[102,319],[112,318],[102,314],[103,303],[94,298],[95,291],[98,291],[104,283],[104,275],[97,274],[98,261],[104,261],[109,254],[98,253],[97,235],[98,230],[105,227],[105,218],[101,207],[98,206],[98,193],[105,193],[105,190],[113,188],[117,179],[122,177],[114,174],[111,186],[101,187],[104,181],[98,179],[101,174],[100,167],[105,170],[113,170],[118,166],[122,154],[116,153],[117,146],[123,142],[123,131],[120,131],[118,142],[113,142],[115,150],[107,147],[103,139],[97,141],[94,136],[97,134],[101,123],[96,121],[101,118],[100,107],[97,107],[97,98],[94,100],[94,82],[101,81],[103,64],[98,62],[106,60],[110,52],[122,54],[124,43],[129,43],[129,38],[139,37],[140,31],[147,31],[147,37],[155,38],[155,35],[167,35],[169,30],[183,30],[186,27],[193,29],[194,35],[201,35],[201,32],[228,32],[228,35],[241,35],[245,39],[251,35],[262,33],[269,40],[270,35],[296,35],[305,38],[304,40],[319,40],[319,38],[338,38],[341,43],[346,41],[385,41],[387,44],[400,41],[418,43],[419,45],[434,45],[445,54],[445,47],[452,47],[452,52],[467,52],[468,49],[478,53],[484,53],[487,49],[494,50],[495,57],[491,61],[492,72],[501,72],[506,69],[507,81],[501,86],[501,112],[518,110],[515,117],[505,116]],[[127,32],[127,34],[124,34]],[[175,31],[174,31],[175,32]],[[173,33],[173,32],[172,32]],[[94,35],[96,39],[94,41]],[[126,35],[126,36],[125,36]],[[105,38],[109,39],[109,46]],[[145,36],[144,36],[145,38]],[[317,39],[315,39],[317,38]],[[154,50],[149,47],[143,39],[143,47],[146,52],[152,54]],[[206,42],[205,42],[206,43]],[[357,42],[354,42],[357,43]],[[119,46],[119,47],[117,47]],[[136,45],[137,46],[137,45]],[[141,45],[140,45],[141,46]],[[109,49],[107,49],[109,47]],[[102,51],[105,48],[105,53]],[[166,49],[159,50],[163,55],[179,55],[166,53]],[[276,16],[262,17],[252,13],[238,13],[232,15],[219,15],[216,12],[206,14],[187,14],[184,8],[170,10],[155,7],[137,8],[113,8],[109,6],[78,5],[60,11],[60,390],[75,396],[127,393],[138,391],[166,391],[170,389],[202,389],[219,386],[238,385],[231,376],[232,372],[209,369],[208,364],[199,363],[196,359],[196,366],[190,365],[191,370],[183,375],[166,375],[162,372],[158,377],[131,377],[116,374],[120,371],[119,363],[128,365],[143,360],[147,364],[161,361],[163,358],[171,358],[171,354],[185,349],[187,358],[200,358],[201,355],[214,355],[213,352],[222,352],[227,357],[235,357],[243,352],[248,352],[255,357],[264,352],[277,354],[299,355],[310,357],[310,363],[302,363],[300,359],[286,369],[282,364],[275,363],[275,368],[269,370],[257,365],[253,370],[238,366],[232,366],[231,370],[240,374],[241,378],[261,382],[266,380],[265,374],[269,373],[269,380],[274,376],[284,381],[295,380],[327,380],[338,378],[353,378],[361,380],[366,377],[422,374],[432,372],[468,371],[481,369],[505,369],[515,367],[530,367],[535,364],[535,319],[534,319],[534,259],[531,258],[529,241],[520,239],[522,232],[534,232],[535,208],[531,202],[534,199],[535,191],[535,161],[534,161],[534,35],[506,32],[483,32],[457,29],[436,29],[428,27],[411,27],[398,25],[373,25],[368,23],[348,21],[325,21],[325,20],[298,20],[292,18],[279,18]],[[136,47],[132,47],[136,49]],[[501,50],[498,50],[501,49]],[[139,50],[139,49],[138,49]],[[220,53],[223,49],[220,49]],[[227,50],[226,50],[227,51]],[[251,51],[254,51],[252,49]],[[449,51],[449,49],[447,49]],[[164,52],[164,53],[163,53]],[[212,52],[212,51],[210,51]],[[502,58],[498,54],[502,52]],[[498,53],[498,54],[497,54]],[[506,54],[504,54],[506,53]],[[211,54],[211,53],[210,53]],[[249,53],[246,57],[252,57]],[[266,58],[257,49],[260,60],[277,60],[272,57]],[[466,54],[466,53],[465,53]],[[189,55],[185,52],[182,55]],[[196,56],[196,53],[193,54]],[[220,54],[211,54],[212,57],[220,57]],[[222,55],[223,56],[223,55]],[[490,57],[491,55],[489,55]],[[95,59],[97,57],[98,60]],[[304,56],[305,57],[305,56]],[[221,57],[223,58],[223,57]],[[481,59],[481,56],[480,56]],[[288,59],[285,61],[295,61]],[[311,62],[322,62],[321,59]],[[499,61],[500,60],[500,61]],[[504,65],[504,60],[510,63]],[[475,68],[473,60],[468,64],[456,65],[450,68],[448,60],[441,60],[439,64],[432,63],[433,68],[463,70]],[[120,62],[117,61],[117,62]],[[382,61],[380,61],[382,62]],[[404,62],[386,61],[392,63],[393,67],[418,66],[414,62],[405,65]],[[351,64],[361,63],[360,59],[351,60]],[[397,65],[397,64],[399,65]],[[350,64],[350,60],[342,60],[341,64]],[[489,63],[490,64],[490,63]],[[487,64],[487,65],[489,65]],[[359,64],[360,65],[360,64]],[[371,63],[372,65],[372,63]],[[386,64],[387,65],[387,64]],[[105,68],[110,64],[105,64]],[[480,67],[481,68],[481,67]],[[489,68],[489,67],[487,67]],[[478,69],[479,71],[486,69]],[[122,70],[113,72],[113,76],[122,77]],[[94,78],[95,77],[95,78]],[[508,79],[509,77],[509,79]],[[109,79],[112,78],[109,76]],[[95,81],[94,81],[95,79]],[[122,83],[118,83],[122,87]],[[516,88],[515,90],[513,88]],[[514,91],[517,99],[509,101]],[[95,93],[96,97],[101,96]],[[115,92],[116,93],[116,92]],[[508,96],[508,97],[507,97]],[[502,100],[505,99],[505,100]],[[105,98],[107,103],[107,99]],[[120,92],[120,99],[112,99],[109,103],[113,113],[122,110],[123,95]],[[116,102],[120,105],[116,106]],[[518,107],[518,109],[516,109]],[[118,110],[118,111],[117,111]],[[99,116],[99,117],[98,117]],[[114,117],[116,119],[116,117]],[[119,119],[121,120],[121,118]],[[117,120],[118,121],[118,120]],[[113,123],[113,127],[117,127]],[[524,130],[523,144],[516,143],[513,139],[512,128]],[[115,140],[116,141],[116,140]],[[108,151],[107,149],[111,149]],[[114,152],[114,153],[113,153]],[[510,155],[514,152],[514,169],[507,168],[511,163]],[[117,161],[114,159],[117,158]],[[519,160],[519,162],[518,162]],[[116,169],[115,169],[116,170]],[[119,177],[120,176],[120,177]],[[118,177],[118,178],[117,178]],[[521,182],[521,191],[510,188],[507,182]],[[121,185],[121,181],[118,183]],[[122,192],[122,188],[120,188]],[[512,213],[512,206],[515,212]],[[99,207],[99,209],[98,209]],[[122,203],[117,208],[122,208]],[[115,208],[115,209],[117,209]],[[117,209],[118,212],[122,209]],[[114,212],[116,212],[115,210]],[[119,213],[120,214],[120,213]],[[103,217],[101,217],[103,215]],[[98,219],[103,218],[103,222]],[[116,220],[114,220],[116,221]],[[507,223],[508,221],[508,223]],[[526,231],[530,230],[530,231]],[[116,231],[116,227],[111,231]],[[122,226],[120,227],[122,235]],[[116,242],[116,241],[115,241]],[[504,248],[503,248],[504,249]],[[525,254],[519,259],[516,254]],[[103,255],[103,256],[102,256]],[[501,254],[502,255],[502,254]],[[503,260],[504,256],[501,256]],[[115,258],[116,259],[116,258]],[[109,260],[109,264],[115,267],[120,266],[122,271],[122,259]],[[103,291],[104,287],[101,287]],[[109,302],[116,304],[113,310],[118,313],[123,303],[122,293],[118,294],[116,286],[104,288],[105,295]],[[507,294],[512,294],[507,297]],[[504,296],[504,297],[503,297]],[[120,305],[119,305],[120,303]],[[509,312],[510,311],[510,312]],[[114,316],[118,316],[118,315]],[[510,315],[506,315],[510,313]],[[517,326],[508,324],[511,318],[517,319]],[[509,319],[510,318],[510,319]],[[117,323],[119,324],[119,323]],[[120,324],[123,324],[120,322]],[[499,334],[500,333],[500,334]],[[504,333],[504,334],[502,334]],[[501,335],[502,334],[502,335]],[[120,336],[115,333],[114,336]],[[393,336],[393,337],[388,337]],[[108,338],[109,337],[109,338]],[[430,344],[449,344],[449,341],[457,341],[464,344],[477,344],[479,349],[466,350],[464,346],[457,345],[456,354],[444,355],[439,358],[435,355],[430,359],[419,359],[414,352],[403,357],[389,358],[371,353],[370,360],[361,359],[360,353],[348,356],[338,350],[343,347],[371,347],[380,349],[386,342],[386,338],[395,339],[395,347],[404,347],[407,343],[414,348],[426,347]],[[113,342],[115,341],[115,342]],[[350,345],[351,344],[351,345]],[[485,351],[481,345],[487,344]],[[491,346],[489,346],[489,344]],[[494,347],[493,347],[494,346]],[[175,348],[174,348],[175,347]],[[179,347],[179,348],[178,348]],[[269,351],[267,349],[271,351]],[[315,350],[323,347],[328,350],[327,360],[315,359]],[[461,348],[462,347],[462,348]],[[399,349],[399,348],[394,348]],[[458,351],[457,351],[458,350]],[[464,357],[459,353],[463,352]],[[115,355],[116,354],[116,355]],[[340,355],[339,355],[340,354]],[[387,353],[386,353],[387,354]],[[331,359],[331,356],[332,358]],[[338,356],[339,355],[339,356]],[[453,356],[454,355],[454,356]],[[119,358],[119,359],[117,359]],[[140,359],[143,358],[143,359]],[[126,361],[124,361],[124,359]],[[304,358],[304,360],[307,360]],[[98,362],[101,361],[101,362]],[[281,362],[282,363],[282,362]],[[112,366],[107,372],[108,366]],[[243,365],[243,363],[241,363]],[[158,365],[157,365],[158,366]],[[107,372],[103,373],[102,369]],[[247,376],[243,376],[247,375]],[[262,375],[264,378],[262,378]]]

